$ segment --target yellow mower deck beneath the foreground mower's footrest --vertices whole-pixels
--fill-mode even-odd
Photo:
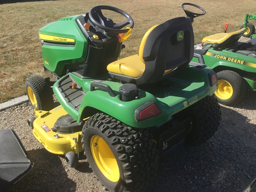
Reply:
[[[81,132],[60,134],[52,131],[51,128],[53,128],[56,120],[60,116],[68,114],[61,105],[49,112],[36,110],[35,113],[37,118],[33,123],[33,134],[49,152],[65,155],[70,151],[84,151],[81,143]],[[77,138],[77,144],[75,137]]]

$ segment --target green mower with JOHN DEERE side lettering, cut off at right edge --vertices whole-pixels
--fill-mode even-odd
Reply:
[[[239,42],[247,29],[227,33],[227,28],[225,24],[225,32],[204,37],[195,53],[217,73],[219,103],[232,106],[242,100],[246,90],[256,90],[256,39]]]

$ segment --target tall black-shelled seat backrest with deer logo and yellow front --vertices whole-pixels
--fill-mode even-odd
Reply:
[[[189,64],[193,53],[194,33],[187,18],[178,17],[152,27],[140,44],[145,71],[136,84],[152,84],[171,76],[180,66]]]

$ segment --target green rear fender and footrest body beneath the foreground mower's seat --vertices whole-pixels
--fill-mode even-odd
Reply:
[[[72,78],[86,92],[81,101],[79,111],[72,108],[68,102],[62,97],[60,90],[56,84],[53,91],[63,108],[77,121],[82,118],[81,114],[87,107],[96,108],[108,115],[136,128],[147,128],[167,122],[172,115],[180,112],[184,108],[189,107],[196,101],[201,100],[205,96],[212,96],[217,88],[217,84],[209,86],[208,73],[210,68],[195,68],[188,66],[179,74],[176,74],[169,81],[169,86],[165,88],[153,88],[152,92],[139,90],[139,96],[135,100],[123,102],[120,100],[119,88],[122,84],[117,82],[104,81],[116,93],[116,96],[109,96],[108,92],[103,89],[95,88],[90,91],[90,83],[92,80],[80,79],[78,76],[70,74]],[[153,101],[162,111],[158,116],[136,121],[135,111],[142,105]]]

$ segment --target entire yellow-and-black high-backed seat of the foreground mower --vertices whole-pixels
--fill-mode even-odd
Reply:
[[[145,33],[139,54],[108,64],[109,74],[126,83],[152,84],[187,66],[194,53],[194,34],[185,17],[155,25]]]

